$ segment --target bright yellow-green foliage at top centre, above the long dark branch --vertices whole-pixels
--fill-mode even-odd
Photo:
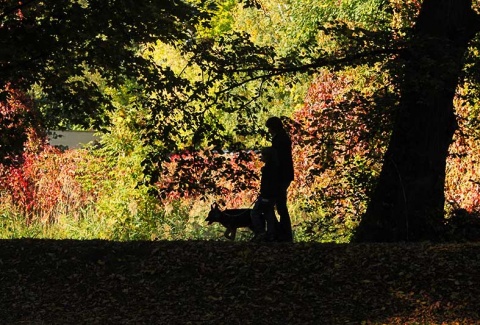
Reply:
[[[391,19],[384,0],[260,1],[258,8],[239,9],[236,29],[249,31],[255,43],[273,46],[281,56],[321,39],[321,27],[333,21],[378,30]],[[325,45],[325,44],[323,44]],[[317,55],[319,53],[316,53]]]

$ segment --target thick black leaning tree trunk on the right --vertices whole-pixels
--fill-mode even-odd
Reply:
[[[401,102],[377,188],[357,241],[435,239],[444,217],[445,164],[456,128],[453,97],[478,31],[471,0],[425,0],[400,60]]]

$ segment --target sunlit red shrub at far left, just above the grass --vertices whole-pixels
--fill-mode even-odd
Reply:
[[[49,146],[40,153],[24,153],[22,164],[2,168],[2,204],[27,224],[54,223],[64,215],[80,218],[96,201],[96,193],[77,179],[80,161],[86,158],[82,151],[60,152]]]

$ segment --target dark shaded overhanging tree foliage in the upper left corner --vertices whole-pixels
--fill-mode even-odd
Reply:
[[[92,76],[108,85],[125,79],[158,85],[155,80],[168,71],[139,56],[139,48],[188,39],[201,17],[206,16],[182,1],[3,1],[0,87],[39,87],[39,103],[52,125],[88,127],[92,121],[100,127],[111,103]]]

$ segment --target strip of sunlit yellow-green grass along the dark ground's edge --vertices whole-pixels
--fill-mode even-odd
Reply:
[[[164,206],[147,202],[133,212],[123,206],[106,209],[92,205],[74,216],[59,214],[51,218],[53,222],[33,218],[28,225],[21,214],[4,212],[0,216],[0,239],[226,240],[221,225],[205,223],[209,202],[174,201]],[[306,213],[294,204],[290,214],[297,242],[349,241],[352,226],[329,220],[318,211]],[[250,230],[239,229],[237,240],[248,241],[251,236]]]

